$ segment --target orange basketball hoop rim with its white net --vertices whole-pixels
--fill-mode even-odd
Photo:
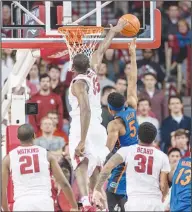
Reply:
[[[70,61],[76,54],[80,53],[91,58],[103,31],[103,27],[97,26],[63,26],[58,28],[58,32],[65,38]]]

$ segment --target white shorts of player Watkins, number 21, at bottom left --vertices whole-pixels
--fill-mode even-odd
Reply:
[[[45,196],[20,197],[14,202],[13,211],[54,211],[54,202]]]

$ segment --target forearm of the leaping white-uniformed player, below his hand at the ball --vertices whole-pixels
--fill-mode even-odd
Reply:
[[[109,32],[107,33],[105,39],[100,43],[99,47],[98,47],[98,53],[99,54],[103,54],[104,52],[107,51],[107,49],[109,48],[111,41],[113,40],[113,38],[115,37],[117,33],[114,32],[112,29],[109,30]]]

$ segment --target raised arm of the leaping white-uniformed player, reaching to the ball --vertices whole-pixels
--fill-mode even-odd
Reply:
[[[102,63],[102,60],[103,60],[103,56],[104,56],[105,52],[107,51],[107,49],[109,48],[111,41],[113,40],[115,35],[117,33],[121,32],[121,30],[126,25],[127,25],[127,20],[123,20],[123,19],[119,19],[117,25],[114,27],[112,25],[110,25],[109,32],[107,33],[104,40],[99,44],[98,49],[92,55],[92,58],[90,61],[90,66],[94,71],[97,72],[97,70],[99,69],[99,67]]]

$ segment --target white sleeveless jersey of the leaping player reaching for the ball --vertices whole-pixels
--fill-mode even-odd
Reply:
[[[77,75],[71,82],[69,88],[69,104],[72,108],[71,112],[69,113],[72,118],[71,126],[73,123],[80,124],[80,108],[78,104],[77,97],[73,95],[71,88],[75,81],[84,80],[88,85],[88,97],[89,103],[91,108],[91,121],[90,125],[93,123],[101,123],[101,94],[100,94],[100,84],[97,81],[96,73],[89,69],[87,74],[79,74]]]

